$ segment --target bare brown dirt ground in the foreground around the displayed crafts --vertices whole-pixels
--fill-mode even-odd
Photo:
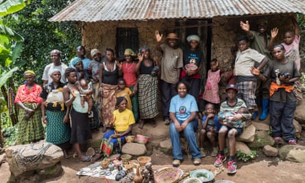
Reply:
[[[158,120],[158,126],[160,129],[166,127],[160,120]],[[150,127],[147,126],[147,128]],[[156,129],[157,131],[158,128]],[[93,138],[98,138],[98,136],[101,136],[101,132],[94,134]],[[297,143],[305,145],[304,131],[302,132],[301,139]],[[154,145],[152,146],[154,147]],[[211,151],[212,149],[208,149],[209,154]],[[149,154],[151,154],[151,162],[154,164],[154,169],[171,167],[172,157],[170,155],[162,153],[158,148],[153,148],[149,151]],[[133,159],[136,159],[136,157],[133,157]],[[191,159],[185,154],[180,169],[184,173],[189,173],[189,171],[194,169],[207,169],[215,174],[215,180],[231,180],[234,182],[305,182],[305,163],[287,162],[279,158],[269,158],[263,154],[262,150],[258,150],[258,157],[255,160],[249,160],[248,162],[237,160],[237,172],[234,175],[228,175],[226,173],[226,164],[223,167],[214,167],[212,165],[214,161],[214,157],[206,156],[206,158],[203,158],[201,165],[194,166]],[[80,162],[77,158],[64,159],[62,160],[63,175],[60,178],[54,178],[46,182],[104,182],[101,178],[79,177],[76,175],[79,169],[89,164],[90,162]],[[8,164],[2,164],[0,167],[0,182],[7,182],[9,178],[10,171]]]

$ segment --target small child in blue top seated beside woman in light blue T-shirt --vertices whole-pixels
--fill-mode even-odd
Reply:
[[[204,112],[205,116],[202,119],[202,130],[200,131],[199,137],[199,149],[202,157],[206,157],[206,152],[204,151],[204,138],[208,136],[208,140],[212,143],[213,147],[211,156],[217,156],[218,148],[215,137],[218,135],[220,125],[218,116],[215,114],[215,106],[212,103],[207,103]]]

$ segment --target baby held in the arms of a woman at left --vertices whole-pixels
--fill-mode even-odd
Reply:
[[[87,80],[82,79],[80,80],[80,85],[79,85],[79,90],[80,90],[80,103],[82,107],[85,107],[85,101],[88,102],[88,114],[91,114],[91,110],[93,107],[93,87],[91,86],[91,83],[88,83]]]

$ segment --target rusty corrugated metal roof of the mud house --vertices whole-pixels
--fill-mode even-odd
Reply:
[[[305,14],[305,0],[75,0],[49,21],[127,21]]]

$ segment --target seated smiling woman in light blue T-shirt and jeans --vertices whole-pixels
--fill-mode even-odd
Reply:
[[[180,81],[177,84],[178,95],[171,98],[169,106],[169,117],[171,124],[169,125],[169,135],[171,136],[171,144],[173,145],[173,166],[178,167],[183,160],[180,132],[184,133],[194,165],[202,162],[202,154],[197,146],[195,130],[198,126],[196,119],[198,107],[195,97],[188,94],[188,84]]]

